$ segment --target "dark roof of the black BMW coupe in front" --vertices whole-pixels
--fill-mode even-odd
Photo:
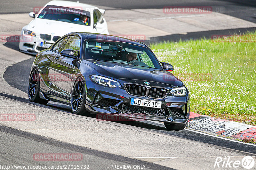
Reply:
[[[130,43],[130,44],[148,48],[148,46],[146,46],[145,44],[143,44],[139,41],[127,39],[127,38],[123,38],[123,37],[118,37],[118,36],[114,36],[114,35],[87,33],[87,32],[72,32],[72,33],[80,34],[85,39],[99,39],[99,40],[103,40],[103,41],[106,40],[106,41],[124,42],[124,43]]]

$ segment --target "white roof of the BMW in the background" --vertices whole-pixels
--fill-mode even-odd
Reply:
[[[75,9],[80,9],[84,11],[93,11],[95,9],[99,9],[96,6],[88,5],[88,4],[83,4],[83,3],[78,3],[77,2],[71,2],[71,1],[59,1],[59,0],[53,0],[47,3],[46,5],[56,5],[56,6],[63,6],[63,7],[70,7],[70,8],[75,8]]]

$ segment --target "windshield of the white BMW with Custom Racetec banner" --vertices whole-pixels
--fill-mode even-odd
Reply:
[[[90,26],[90,12],[79,9],[47,5],[37,18]]]

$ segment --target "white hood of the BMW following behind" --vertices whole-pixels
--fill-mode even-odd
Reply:
[[[34,31],[36,34],[49,34],[60,37],[70,32],[93,32],[92,26],[41,18],[35,18],[29,23],[28,27],[29,30]]]

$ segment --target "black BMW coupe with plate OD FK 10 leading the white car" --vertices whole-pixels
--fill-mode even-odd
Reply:
[[[28,97],[41,104],[68,104],[75,114],[136,117],[182,130],[189,92],[172,70],[141,42],[72,32],[36,55]]]

